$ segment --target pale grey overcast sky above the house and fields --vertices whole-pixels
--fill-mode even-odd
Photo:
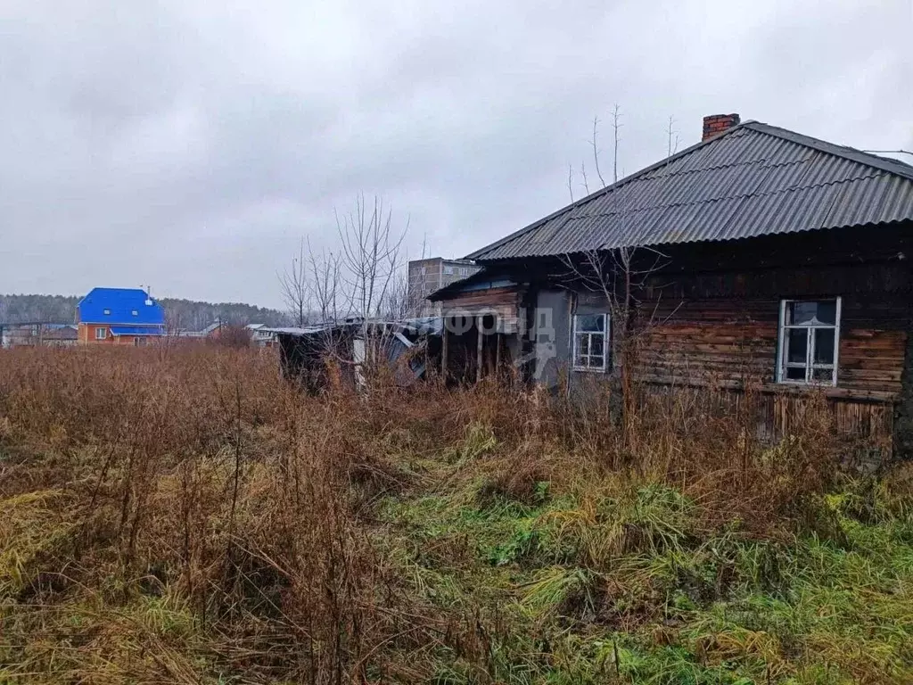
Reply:
[[[0,0],[0,292],[278,306],[359,193],[462,256],[567,204],[614,103],[626,173],[730,111],[913,150],[911,33],[913,0]]]

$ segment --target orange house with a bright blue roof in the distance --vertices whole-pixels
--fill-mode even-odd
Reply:
[[[165,333],[162,305],[145,290],[95,288],[77,310],[79,344],[142,345]]]

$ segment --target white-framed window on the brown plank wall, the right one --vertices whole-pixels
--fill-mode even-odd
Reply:
[[[780,374],[785,383],[837,385],[840,299],[784,300]]]

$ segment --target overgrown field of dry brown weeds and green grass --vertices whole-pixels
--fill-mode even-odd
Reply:
[[[908,682],[909,469],[751,402],[0,353],[0,681]]]

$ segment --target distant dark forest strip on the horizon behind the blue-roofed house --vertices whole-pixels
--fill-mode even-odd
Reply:
[[[79,297],[66,295],[0,295],[0,323],[76,321]],[[168,324],[187,331],[199,331],[210,323],[266,323],[281,326],[288,323],[285,313],[240,302],[196,302],[194,300],[159,300]]]

